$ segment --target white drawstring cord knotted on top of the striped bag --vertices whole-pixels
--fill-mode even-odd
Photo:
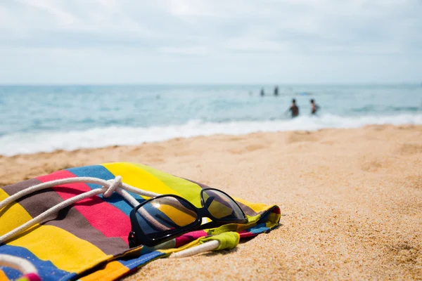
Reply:
[[[27,230],[28,228],[31,228],[35,224],[41,223],[46,218],[49,218],[49,216],[56,214],[61,209],[68,207],[71,204],[78,202],[79,200],[84,200],[94,195],[99,195],[102,193],[104,197],[110,197],[113,194],[113,192],[116,191],[118,194],[122,195],[122,197],[124,197],[124,199],[127,200],[127,202],[132,204],[133,207],[136,207],[139,204],[139,202],[127,191],[133,192],[138,195],[146,196],[146,197],[156,197],[159,195],[154,192],[141,190],[139,188],[134,188],[131,185],[127,185],[126,183],[122,183],[121,176],[116,176],[113,180],[109,180],[109,181],[103,180],[101,178],[91,178],[91,177],[63,178],[60,180],[40,183],[30,188],[26,188],[25,190],[21,190],[20,192],[17,192],[14,195],[11,195],[10,197],[7,197],[5,200],[1,201],[0,209],[3,209],[8,204],[20,199],[21,197],[30,195],[32,192],[43,190],[46,188],[53,188],[54,186],[57,186],[57,185],[65,185],[65,184],[70,184],[70,183],[93,183],[97,185],[102,185],[103,187],[84,192],[82,194],[76,195],[75,197],[69,198],[68,200],[60,202],[59,204],[56,204],[55,206],[44,211],[43,213],[39,214],[35,218],[32,218],[30,221],[27,221],[22,226],[19,226],[18,228],[11,230],[5,235],[2,235],[0,237],[0,244],[3,244],[8,240],[13,239],[15,236],[19,235],[20,233]],[[145,210],[143,209],[140,209],[139,211],[141,211],[142,213],[145,212]],[[214,241],[206,242],[204,244],[200,244],[190,249],[179,251],[177,253],[172,254],[171,257],[177,258],[177,257],[192,256],[195,254],[203,253],[205,251],[211,251],[213,249],[217,249],[218,247],[219,247],[219,241],[214,240]],[[155,247],[155,248],[158,249],[159,247]]]

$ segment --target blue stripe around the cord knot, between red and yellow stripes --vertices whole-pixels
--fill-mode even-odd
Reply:
[[[77,167],[77,168],[70,168],[70,169],[67,169],[67,170],[70,171],[70,173],[74,174],[75,176],[91,176],[91,177],[94,177],[94,178],[101,178],[101,179],[106,180],[106,181],[115,178],[115,175],[113,175],[110,171],[108,171],[108,169],[106,169],[105,166],[101,166],[101,165],[82,166],[82,167]],[[101,188],[100,185],[96,185],[96,184],[93,184],[93,183],[87,183],[87,185],[91,189]],[[129,192],[129,193],[139,203],[145,201],[141,196],[134,194],[132,192]],[[131,204],[126,202],[124,200],[124,198],[122,196],[118,195],[116,192],[113,193],[113,195],[111,195],[108,198],[103,198],[102,195],[99,195],[99,197],[101,197],[104,201],[112,204],[114,207],[120,209],[127,216],[129,216],[130,211],[132,211],[132,209],[134,209],[134,207]]]

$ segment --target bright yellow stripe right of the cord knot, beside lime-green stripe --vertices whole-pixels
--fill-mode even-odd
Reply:
[[[122,176],[124,183],[132,185],[135,188],[147,190],[159,194],[175,194],[179,195],[179,192],[172,190],[167,185],[162,183],[158,178],[149,174],[147,171],[141,169],[141,167],[130,163],[107,163],[103,166],[108,169],[115,176]]]

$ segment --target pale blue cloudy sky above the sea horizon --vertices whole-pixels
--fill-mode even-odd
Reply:
[[[422,0],[3,0],[0,84],[421,83]]]

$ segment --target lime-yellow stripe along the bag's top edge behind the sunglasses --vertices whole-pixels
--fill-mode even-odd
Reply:
[[[142,164],[132,163],[135,166],[139,166],[139,168],[143,169],[144,171],[148,172],[149,174],[158,178],[162,183],[167,185],[172,190],[178,192],[179,194],[183,195],[183,197],[194,204],[196,207],[200,208],[200,188],[199,185],[196,183],[192,183],[191,181],[187,181],[184,178],[179,178],[177,176],[173,176],[171,174],[167,174],[162,171],[158,171],[157,169],[153,169],[150,166],[145,166]]]

